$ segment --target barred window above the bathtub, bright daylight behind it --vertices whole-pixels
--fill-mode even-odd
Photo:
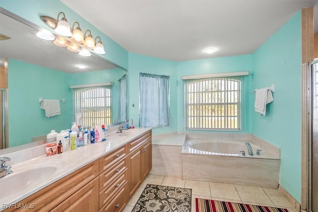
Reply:
[[[240,77],[184,80],[189,130],[240,130]]]

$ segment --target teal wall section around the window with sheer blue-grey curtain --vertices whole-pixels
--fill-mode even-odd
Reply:
[[[128,118],[139,126],[139,73],[154,73],[170,76],[170,118],[171,125],[153,129],[153,134],[172,133],[177,131],[177,63],[174,61],[153,58],[129,53],[128,61]],[[132,104],[135,104],[133,107]]]

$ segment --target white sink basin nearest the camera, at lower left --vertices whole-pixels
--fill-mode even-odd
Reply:
[[[12,174],[0,178],[0,199],[48,182],[65,166],[66,162],[53,160],[12,167]]]

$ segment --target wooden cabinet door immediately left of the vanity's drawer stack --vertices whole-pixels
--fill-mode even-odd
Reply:
[[[96,177],[51,212],[98,212],[98,194],[98,177]]]

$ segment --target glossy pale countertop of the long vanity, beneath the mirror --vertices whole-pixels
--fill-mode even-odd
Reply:
[[[61,167],[53,175],[46,176],[45,179],[41,177],[34,179],[32,186],[20,187],[18,184],[11,184],[10,191],[7,192],[5,188],[5,176],[0,178],[0,211],[3,210],[5,204],[14,204],[24,198],[36,193],[37,191],[45,188],[46,186],[58,181],[59,179],[73,173],[79,168],[89,164],[90,162],[98,159],[99,157],[107,154],[117,147],[125,145],[127,142],[132,141],[135,137],[149,131],[151,128],[140,128],[128,130],[131,132],[129,136],[119,136],[115,133],[110,133],[107,140],[104,142],[95,142],[94,144],[88,144],[87,146],[77,147],[75,150],[64,151],[62,154],[55,154],[52,156],[45,156],[45,145],[35,146],[32,148],[3,154],[0,156],[11,157],[11,161],[7,161],[7,165],[11,165],[11,170],[14,175],[15,170],[23,167],[34,167],[37,163],[53,163],[54,161],[60,161]],[[37,153],[40,152],[41,156]],[[36,155],[36,157],[32,157]],[[21,160],[27,158],[23,162]],[[18,179],[17,179],[18,180]]]

